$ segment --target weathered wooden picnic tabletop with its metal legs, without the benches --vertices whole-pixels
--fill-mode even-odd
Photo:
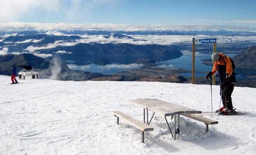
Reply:
[[[128,103],[131,103],[133,105],[137,105],[138,107],[144,108],[144,123],[145,123],[145,109],[147,110],[147,124],[150,124],[152,118],[154,117],[154,114],[162,115],[166,123],[168,124],[168,127],[171,131],[171,128],[169,126],[169,123],[166,119],[167,116],[174,116],[174,122],[175,122],[175,134],[173,136],[173,133],[171,132],[171,135],[176,140],[176,134],[180,133],[180,114],[201,114],[202,111],[194,110],[192,108],[187,108],[182,105],[177,105],[174,103],[158,100],[158,99],[151,99],[151,98],[139,98],[134,100],[128,100]],[[148,110],[154,112],[152,115],[150,122],[148,122]],[[178,115],[178,128],[176,129],[176,115]]]

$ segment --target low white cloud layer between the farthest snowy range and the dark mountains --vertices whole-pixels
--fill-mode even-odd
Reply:
[[[64,41],[55,41],[54,43],[49,43],[47,45],[41,47],[29,46],[25,50],[33,53],[38,50],[56,48],[58,46],[68,47],[75,46],[79,43],[129,43],[135,45],[147,45],[147,44],[156,44],[156,45],[173,45],[178,43],[192,43],[192,38],[217,38],[217,43],[225,44],[225,43],[243,43],[243,42],[252,42],[256,43],[256,36],[206,36],[206,35],[129,35],[135,39],[129,38],[104,38],[102,35],[83,35],[81,37],[86,37],[80,40],[75,40],[74,42],[64,42]],[[71,54],[71,52],[66,51],[58,51],[61,54]]]

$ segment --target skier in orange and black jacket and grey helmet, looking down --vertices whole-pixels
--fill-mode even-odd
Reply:
[[[222,53],[213,53],[211,55],[211,59],[214,62],[214,66],[213,70],[207,74],[206,79],[217,73],[220,74],[220,94],[223,103],[223,107],[220,108],[220,112],[225,114],[233,113],[231,94],[234,90],[234,83],[236,82],[234,68],[232,68],[232,65],[234,66],[234,62]]]

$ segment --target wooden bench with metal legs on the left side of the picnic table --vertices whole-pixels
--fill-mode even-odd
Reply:
[[[142,131],[142,143],[144,143],[144,132],[145,131],[154,131],[154,128],[152,126],[149,126],[143,122],[138,121],[137,119],[134,119],[133,117],[130,117],[120,111],[113,111],[112,112],[115,117],[117,117],[116,122],[119,124],[119,117],[121,117],[126,122],[130,123],[132,126],[137,127],[140,131]]]

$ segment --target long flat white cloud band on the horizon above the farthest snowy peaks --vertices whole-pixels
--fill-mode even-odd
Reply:
[[[106,30],[106,31],[149,31],[149,30],[206,30],[217,31],[225,29],[227,31],[254,31],[256,27],[249,26],[225,26],[225,25],[191,25],[191,24],[151,24],[151,25],[131,25],[131,24],[65,24],[65,23],[37,23],[37,22],[4,22],[0,24],[0,31],[26,31],[29,29],[42,29],[56,32],[59,29],[71,30]],[[61,35],[61,34],[60,34]]]

